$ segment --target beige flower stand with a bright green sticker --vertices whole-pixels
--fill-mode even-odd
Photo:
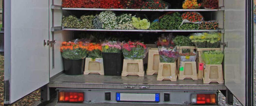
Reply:
[[[196,62],[180,62],[180,68],[178,70],[178,79],[193,79],[197,80]]]

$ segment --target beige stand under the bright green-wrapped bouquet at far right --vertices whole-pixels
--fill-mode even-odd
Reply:
[[[219,84],[224,84],[222,65],[205,65],[204,71],[204,84],[209,84],[211,82],[218,82]]]

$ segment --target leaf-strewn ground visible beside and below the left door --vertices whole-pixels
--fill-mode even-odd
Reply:
[[[40,100],[40,90],[36,90],[35,92],[13,103],[11,106],[34,105],[35,102],[39,100]],[[4,105],[4,56],[0,55],[0,106],[3,106],[3,105]]]

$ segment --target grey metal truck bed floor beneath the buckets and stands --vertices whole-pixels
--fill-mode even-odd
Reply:
[[[202,80],[156,81],[157,75],[138,76],[104,76],[99,74],[71,76],[61,74],[50,79],[49,87],[57,88],[93,88],[93,89],[140,89],[139,86],[150,86],[148,89],[161,90],[226,90],[224,84],[204,84]],[[125,88],[134,86],[134,88]]]

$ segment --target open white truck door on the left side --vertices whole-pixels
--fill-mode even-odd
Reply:
[[[49,1],[4,5],[4,103],[11,104],[49,82]]]

